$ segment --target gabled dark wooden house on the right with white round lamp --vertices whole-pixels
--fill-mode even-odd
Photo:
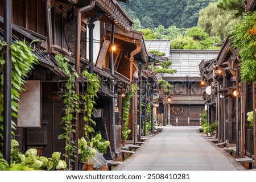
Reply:
[[[202,61],[199,65],[201,76],[207,85],[205,99],[209,123],[218,122],[218,140],[227,142],[230,146],[237,141],[238,131],[241,131],[241,114],[244,114],[241,113],[241,97],[238,98],[239,113],[236,110],[236,81],[241,85],[240,78],[237,77],[237,66],[236,53],[231,49],[229,38],[222,44],[215,60]]]

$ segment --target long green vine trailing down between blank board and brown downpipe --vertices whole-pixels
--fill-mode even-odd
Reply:
[[[79,96],[75,92],[75,83],[78,75],[66,57],[57,54],[55,55],[55,59],[57,60],[57,67],[69,76],[65,83],[65,92],[61,96],[64,103],[64,117],[61,118],[60,123],[65,124],[63,127],[64,133],[58,137],[58,139],[65,139],[64,157],[65,162],[69,164],[70,161],[73,161],[72,157],[75,154],[75,141],[72,135],[75,133],[73,120],[76,119],[73,114],[79,112]]]

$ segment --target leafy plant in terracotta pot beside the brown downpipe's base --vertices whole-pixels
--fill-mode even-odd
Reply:
[[[92,171],[93,163],[92,159],[96,155],[96,150],[88,146],[88,142],[84,137],[79,139],[78,143],[78,154],[79,154],[79,169],[83,171]]]

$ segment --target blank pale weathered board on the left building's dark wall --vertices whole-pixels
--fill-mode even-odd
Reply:
[[[27,80],[26,90],[20,94],[18,127],[40,127],[41,81]]]

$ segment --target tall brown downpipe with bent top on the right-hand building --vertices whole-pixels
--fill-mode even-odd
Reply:
[[[239,156],[239,130],[238,130],[238,123],[239,123],[239,118],[238,118],[238,69],[234,67],[234,61],[236,61],[236,56],[231,56],[232,60],[232,70],[236,71],[236,155]]]

